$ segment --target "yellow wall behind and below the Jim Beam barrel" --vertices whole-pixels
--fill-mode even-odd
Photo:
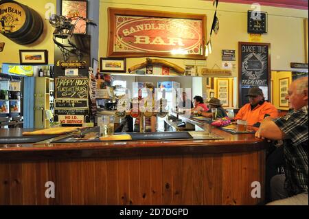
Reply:
[[[47,49],[48,62],[49,64],[54,64],[54,42],[52,40],[54,27],[49,24],[48,20],[45,20],[45,4],[53,3],[56,11],[56,0],[18,0],[17,2],[29,6],[41,15],[44,21],[43,34],[40,36],[40,38],[38,38],[37,41],[29,45],[19,45],[0,34],[0,42],[5,43],[3,51],[0,52],[0,65],[1,63],[19,63],[19,49]]]

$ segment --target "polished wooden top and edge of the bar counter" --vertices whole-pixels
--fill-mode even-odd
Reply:
[[[156,154],[229,153],[263,150],[267,144],[253,134],[231,135],[208,124],[198,124],[206,132],[224,139],[169,139],[147,141],[100,141],[51,143],[48,139],[37,143],[1,144],[0,159],[47,159],[122,157]],[[1,129],[0,137],[21,137],[22,128]],[[27,129],[30,131],[30,129]]]

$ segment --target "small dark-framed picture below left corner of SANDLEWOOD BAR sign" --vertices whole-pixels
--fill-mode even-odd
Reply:
[[[126,72],[126,58],[100,58],[100,72]]]

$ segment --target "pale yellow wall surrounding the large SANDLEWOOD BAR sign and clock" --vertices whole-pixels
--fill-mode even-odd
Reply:
[[[135,8],[142,10],[159,10],[167,12],[186,12],[207,15],[207,39],[214,16],[212,1],[199,0],[100,0],[100,36],[99,57],[106,57],[108,36],[107,8]],[[235,49],[238,56],[238,42],[249,41],[247,34],[247,10],[251,5],[222,3],[218,5],[220,29],[218,35],[212,34],[213,53],[207,60],[207,67],[215,64],[221,66],[221,49]],[[263,34],[262,42],[271,43],[271,69],[288,70],[290,62],[305,62],[305,28],[304,18],[308,10],[294,10],[262,6],[268,12],[268,34]],[[168,59],[184,67],[181,59]],[[145,58],[127,58],[127,68],[144,62]],[[238,57],[233,77],[238,76]]]

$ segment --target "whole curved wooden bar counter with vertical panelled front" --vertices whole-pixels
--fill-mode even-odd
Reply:
[[[265,141],[203,125],[224,139],[0,145],[1,205],[256,205]],[[0,129],[21,136],[22,129]],[[45,183],[55,184],[46,198]],[[260,198],[251,183],[260,182]]]

